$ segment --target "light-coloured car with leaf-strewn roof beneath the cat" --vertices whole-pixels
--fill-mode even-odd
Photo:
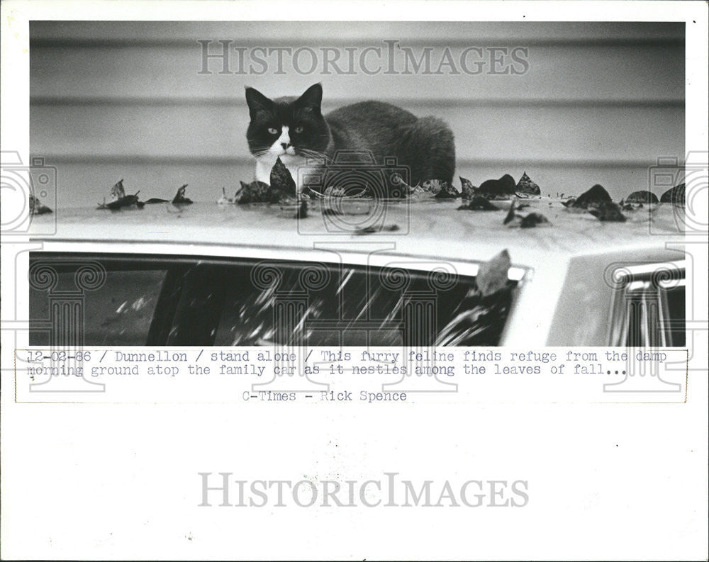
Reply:
[[[30,344],[683,346],[682,208],[564,203],[58,209],[33,217]]]

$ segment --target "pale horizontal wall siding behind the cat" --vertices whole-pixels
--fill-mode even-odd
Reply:
[[[244,86],[276,97],[322,82],[324,111],[379,99],[446,120],[457,173],[474,184],[526,171],[544,193],[601,183],[620,198],[647,189],[658,157],[683,157],[683,36],[674,23],[32,22],[30,152],[57,167],[60,206],[101,201],[121,178],[146,198],[188,183],[191,198],[215,201],[253,175]],[[198,40],[211,40],[211,52],[218,40],[316,51],[398,40],[417,53],[432,47],[434,67],[445,47],[454,58],[469,46],[527,47],[529,70],[367,76],[318,67],[303,76],[284,64],[285,74],[219,74],[211,60],[212,73],[199,74]]]

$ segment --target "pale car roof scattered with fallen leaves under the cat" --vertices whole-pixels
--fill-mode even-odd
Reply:
[[[677,225],[683,223],[683,208],[669,203],[627,211],[625,223],[601,222],[589,213],[567,209],[558,199],[519,203],[529,205],[519,211],[521,214],[540,213],[549,225],[520,228],[518,221],[503,225],[508,201],[493,201],[501,210],[489,211],[458,210],[460,200],[333,201],[327,205],[311,201],[307,218],[296,218],[296,205],[157,203],[113,211],[59,208],[52,214],[33,217],[30,237],[57,242],[158,242],[298,250],[323,242],[359,244],[362,248],[370,242],[389,242],[389,253],[464,261],[489,259],[508,249],[513,263],[528,266],[539,266],[550,258],[620,251],[634,254],[641,249],[667,254],[665,243],[682,238]],[[332,210],[323,213],[325,208]],[[372,222],[384,228],[356,232]],[[676,259],[676,253],[667,255]]]

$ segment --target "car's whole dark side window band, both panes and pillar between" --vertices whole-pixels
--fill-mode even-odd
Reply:
[[[104,283],[82,300],[86,345],[489,346],[499,342],[515,288],[510,281],[483,298],[471,276],[398,266],[106,254],[52,259],[58,285],[72,283],[85,262],[105,270]],[[30,317],[38,326],[30,344],[58,337],[56,322],[41,324],[57,297],[56,287],[38,283],[43,260],[46,254],[30,255]]]

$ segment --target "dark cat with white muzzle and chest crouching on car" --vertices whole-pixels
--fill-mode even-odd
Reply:
[[[246,101],[251,118],[246,137],[249,150],[256,157],[255,175],[266,184],[270,183],[271,169],[278,158],[291,172],[296,189],[301,191],[306,160],[308,170],[312,169],[313,161],[320,162],[320,167],[328,164],[332,167],[336,158],[339,164],[345,160],[355,162],[354,168],[359,165],[362,169],[372,169],[374,158],[375,167],[384,169],[388,157],[396,158],[393,169],[408,171],[406,180],[411,186],[428,179],[452,183],[454,137],[448,125],[438,118],[417,118],[381,101],[354,103],[323,116],[321,84],[313,84],[297,99],[274,100],[247,87]],[[381,189],[372,190],[375,196],[391,196],[391,193],[400,196],[400,192],[394,191],[393,175],[379,174],[388,179]],[[363,176],[367,174],[363,172]],[[371,174],[367,178],[371,181]],[[367,181],[362,183],[367,184]],[[401,186],[398,189],[401,190]]]

